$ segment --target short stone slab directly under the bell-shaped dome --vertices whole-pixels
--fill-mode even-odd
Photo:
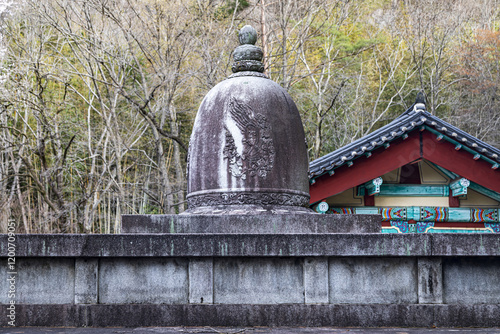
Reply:
[[[232,212],[245,211],[238,209]],[[380,233],[381,221],[380,215],[317,213],[123,215],[122,233]]]

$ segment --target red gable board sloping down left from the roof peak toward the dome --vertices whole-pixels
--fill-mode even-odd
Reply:
[[[344,165],[336,169],[334,175],[326,174],[316,179],[316,183],[309,187],[310,203],[373,180],[419,158],[420,132],[414,131],[407,139],[392,142],[387,149],[382,147],[375,150],[370,158],[358,158],[351,167]]]

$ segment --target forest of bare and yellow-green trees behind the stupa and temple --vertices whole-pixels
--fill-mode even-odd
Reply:
[[[204,95],[259,32],[309,158],[429,112],[500,146],[496,0],[24,0],[0,4],[0,232],[117,233],[185,210]]]

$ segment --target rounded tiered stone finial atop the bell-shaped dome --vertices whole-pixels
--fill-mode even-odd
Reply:
[[[240,46],[234,50],[234,64],[232,70],[237,72],[264,72],[262,57],[264,53],[261,48],[255,46],[257,42],[257,31],[252,26],[246,25],[238,33]]]

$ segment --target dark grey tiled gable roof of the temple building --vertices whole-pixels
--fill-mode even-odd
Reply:
[[[403,137],[422,126],[438,136],[442,135],[445,140],[460,145],[457,149],[463,148],[477,155],[477,158],[490,162],[492,168],[498,168],[500,164],[499,149],[428,113],[425,111],[424,104],[416,103],[386,126],[312,161],[309,164],[309,179],[312,180],[325,173],[331,173],[334,169],[349,164],[357,157],[369,155],[371,151],[388,145],[394,139]]]

